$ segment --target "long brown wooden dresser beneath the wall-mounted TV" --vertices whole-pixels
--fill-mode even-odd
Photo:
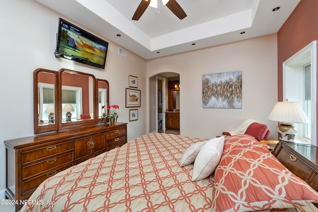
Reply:
[[[45,179],[102,152],[127,143],[127,124],[109,123],[4,141],[6,192],[17,202],[28,199]],[[16,211],[22,205],[16,205]]]

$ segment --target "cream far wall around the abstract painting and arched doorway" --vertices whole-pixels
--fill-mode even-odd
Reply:
[[[227,71],[242,71],[242,109],[202,108],[202,74]],[[182,136],[214,138],[254,119],[277,140],[277,123],[267,120],[277,102],[276,34],[147,61],[147,78],[160,72],[180,74]]]

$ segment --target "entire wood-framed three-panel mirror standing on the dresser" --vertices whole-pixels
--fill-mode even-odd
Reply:
[[[61,69],[34,71],[34,134],[105,122],[109,84],[94,75]]]

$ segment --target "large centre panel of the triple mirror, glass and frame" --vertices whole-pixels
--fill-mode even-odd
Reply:
[[[59,71],[59,130],[96,124],[95,80],[89,73]]]

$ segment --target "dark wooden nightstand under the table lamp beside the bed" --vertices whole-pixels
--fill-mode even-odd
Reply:
[[[295,175],[318,191],[318,147],[279,141],[273,155]],[[318,204],[315,204],[318,207]]]

